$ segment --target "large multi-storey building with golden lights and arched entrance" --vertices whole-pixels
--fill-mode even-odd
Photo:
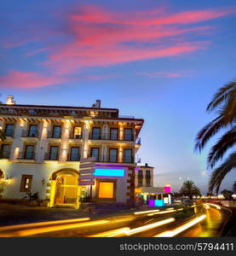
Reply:
[[[117,108],[0,104],[0,179],[3,198],[38,192],[49,206],[78,207],[89,195],[79,186],[79,160],[95,157],[95,201],[130,203],[135,196],[135,154],[143,119],[120,116]]]

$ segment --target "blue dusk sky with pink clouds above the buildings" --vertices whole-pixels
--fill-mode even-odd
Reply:
[[[0,100],[102,108],[145,119],[141,162],[155,185],[192,179],[206,192],[197,132],[211,97],[235,78],[236,3],[9,0],[0,3]],[[236,173],[221,189],[231,189]],[[220,189],[220,190],[221,190]]]

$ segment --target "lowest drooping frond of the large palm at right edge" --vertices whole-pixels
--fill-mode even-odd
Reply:
[[[218,193],[223,178],[227,175],[228,172],[231,172],[233,168],[236,168],[236,152],[230,154],[227,157],[227,160],[225,160],[221,166],[216,168],[216,170],[211,173],[209,182],[210,193],[212,193],[213,189],[216,189],[216,193]]]

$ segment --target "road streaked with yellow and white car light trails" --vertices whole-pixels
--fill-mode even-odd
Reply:
[[[0,236],[221,236],[230,212],[213,204],[0,227]]]

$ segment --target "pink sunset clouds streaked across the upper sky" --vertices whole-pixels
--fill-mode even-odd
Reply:
[[[11,26],[13,30],[17,29],[6,33],[11,38],[3,38],[3,44],[8,47],[28,47],[26,61],[32,55],[43,52],[44,59],[36,63],[37,68],[41,65],[51,75],[11,71],[2,75],[0,81],[1,84],[9,82],[23,88],[61,84],[67,80],[67,75],[78,71],[81,73],[90,67],[183,56],[204,50],[210,42],[204,38],[196,40],[196,36],[200,34],[207,37],[207,32],[212,32],[212,26],[199,23],[234,12],[233,8],[178,13],[166,8],[128,12],[112,11],[96,5],[75,6],[70,11],[60,10],[50,16],[54,22],[27,20],[26,24]],[[38,44],[38,49],[30,49],[29,43],[32,42]],[[180,78],[186,74],[158,71],[143,75]]]

